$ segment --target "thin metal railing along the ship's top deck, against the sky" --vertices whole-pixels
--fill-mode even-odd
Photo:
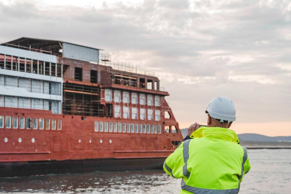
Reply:
[[[146,71],[146,70],[142,70],[142,69],[138,69],[137,65],[130,65],[130,64],[123,64],[123,63],[111,63],[110,61],[100,61],[99,64],[101,65],[105,65],[105,66],[109,66],[112,67],[115,70],[119,70],[119,71],[126,71],[129,73],[136,73],[136,74],[141,74],[141,75],[148,75],[148,76],[155,76],[154,72],[151,71]]]

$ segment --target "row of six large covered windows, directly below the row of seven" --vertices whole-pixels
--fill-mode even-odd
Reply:
[[[121,106],[114,105],[114,117],[121,118]],[[122,118],[130,119],[129,107],[127,107],[127,106],[122,107]],[[131,119],[138,119],[138,118],[140,120],[145,120],[146,109],[139,108],[139,114],[138,114],[138,108],[131,107]],[[153,110],[150,108],[147,109],[147,120],[148,121],[153,120]],[[155,110],[155,121],[161,121],[161,111],[160,110]]]

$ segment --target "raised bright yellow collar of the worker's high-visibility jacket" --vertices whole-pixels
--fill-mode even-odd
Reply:
[[[240,143],[240,140],[238,139],[236,132],[222,127],[199,127],[190,135],[190,137],[223,139],[226,141]]]

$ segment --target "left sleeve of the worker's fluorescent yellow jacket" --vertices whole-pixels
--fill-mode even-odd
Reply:
[[[183,158],[183,144],[184,142],[181,142],[176,150],[166,158],[163,166],[165,172],[176,179],[184,177],[183,165],[185,162]]]

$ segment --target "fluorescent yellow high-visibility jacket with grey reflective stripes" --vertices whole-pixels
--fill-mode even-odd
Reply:
[[[238,193],[250,170],[248,151],[236,132],[221,127],[200,127],[165,160],[164,170],[181,179],[180,193]]]

